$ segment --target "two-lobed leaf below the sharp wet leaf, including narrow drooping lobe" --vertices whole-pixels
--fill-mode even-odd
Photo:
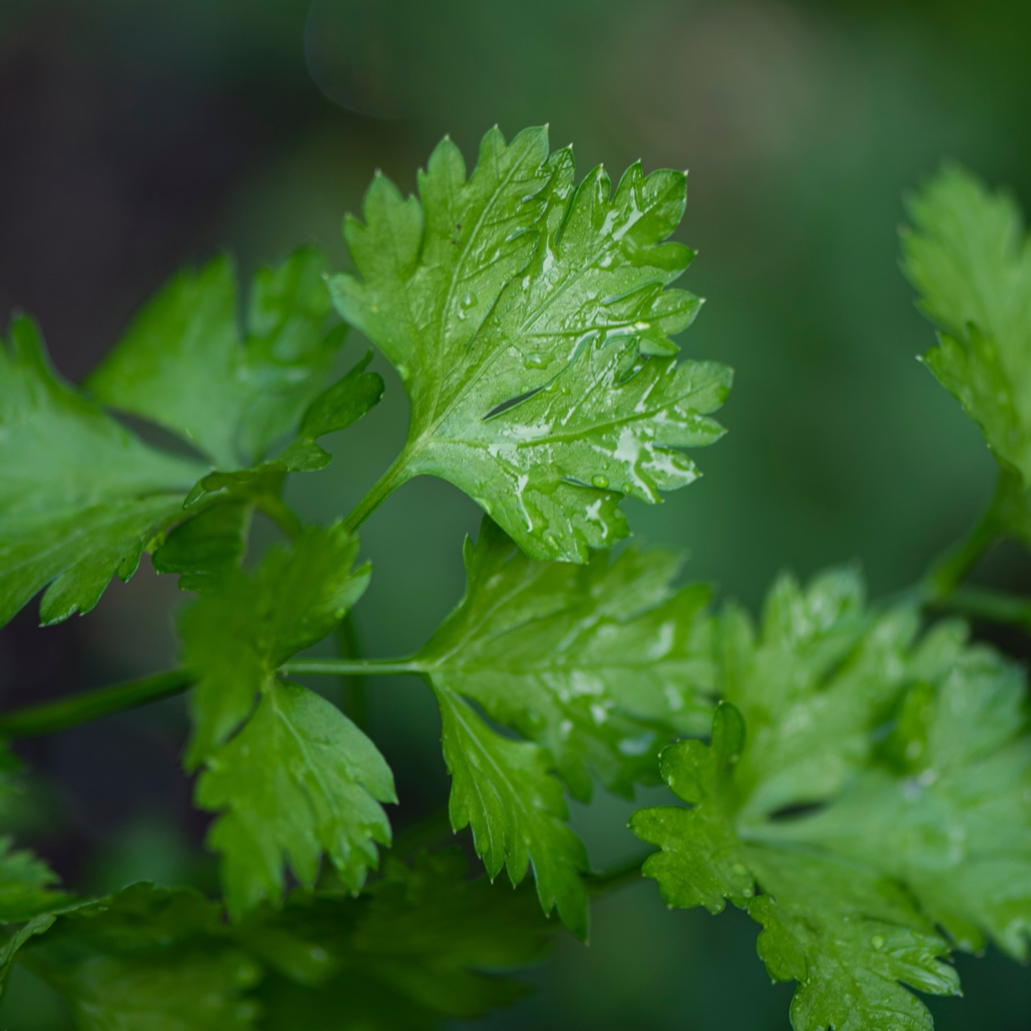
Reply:
[[[586,936],[587,856],[553,770],[583,800],[592,774],[629,796],[664,743],[707,727],[708,591],[674,591],[668,552],[538,562],[490,519],[465,565],[464,598],[411,662],[440,704],[452,825],[472,827],[492,877],[504,866],[519,883],[532,861],[544,911]]]

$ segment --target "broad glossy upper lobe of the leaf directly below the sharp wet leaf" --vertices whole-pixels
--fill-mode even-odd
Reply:
[[[701,585],[674,590],[670,552],[536,562],[485,519],[465,545],[465,597],[415,657],[431,680],[546,746],[572,793],[592,773],[629,795],[659,750],[711,721]]]

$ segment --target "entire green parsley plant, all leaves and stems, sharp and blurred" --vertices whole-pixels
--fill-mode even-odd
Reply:
[[[185,271],[81,387],[13,320],[0,624],[40,592],[44,625],[89,612],[144,552],[197,597],[180,667],[7,713],[0,737],[188,692],[184,764],[212,814],[222,896],[77,897],[4,838],[0,977],[29,968],[87,1031],[432,1028],[519,999],[510,971],[560,924],[587,939],[592,895],[638,871],[671,907],[747,911],[770,976],[795,983],[797,1031],[929,1029],[920,993],[959,992],[955,951],[1027,959],[1026,674],[941,618],[1031,630],[1031,599],[964,585],[1001,536],[1031,545],[1019,212],[947,168],[903,237],[940,330],[925,362],[999,462],[984,517],[901,597],[869,602],[850,568],[784,575],[757,621],[681,586],[675,554],[606,551],[630,533],[621,500],[689,485],[688,453],[723,433],[730,370],[672,339],[700,307],[671,286],[693,257],[669,240],[685,202],[679,172],[577,184],[546,130],[506,143],[494,129],[471,173],[441,142],[418,197],[376,177],[344,226],[353,272],[300,251],[255,276],[241,321],[229,259]],[[287,477],[323,468],[319,438],[384,391],[370,356],[332,381],[346,325],[397,369],[410,428],[354,511],[306,525]],[[119,413],[181,446],[144,442]],[[369,583],[362,524],[419,475],[485,512],[465,596],[414,655],[305,658]],[[255,512],[284,540],[251,561]],[[357,711],[298,683],[398,673],[439,706],[450,829],[470,828],[486,876],[455,850],[390,855],[390,766]],[[647,851],[595,870],[567,797],[663,781],[668,804],[630,824]],[[520,889],[492,887],[502,874]]]

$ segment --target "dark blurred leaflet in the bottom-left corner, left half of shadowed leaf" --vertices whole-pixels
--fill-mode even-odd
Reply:
[[[261,967],[226,940],[196,892],[134,885],[27,925],[19,959],[56,988],[82,1031],[253,1028]]]

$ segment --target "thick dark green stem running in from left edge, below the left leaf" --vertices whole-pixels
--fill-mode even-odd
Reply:
[[[109,688],[87,691],[45,705],[33,705],[0,716],[0,739],[39,737],[79,724],[146,705],[159,698],[186,691],[194,683],[189,669],[171,669],[138,680],[126,680]]]

